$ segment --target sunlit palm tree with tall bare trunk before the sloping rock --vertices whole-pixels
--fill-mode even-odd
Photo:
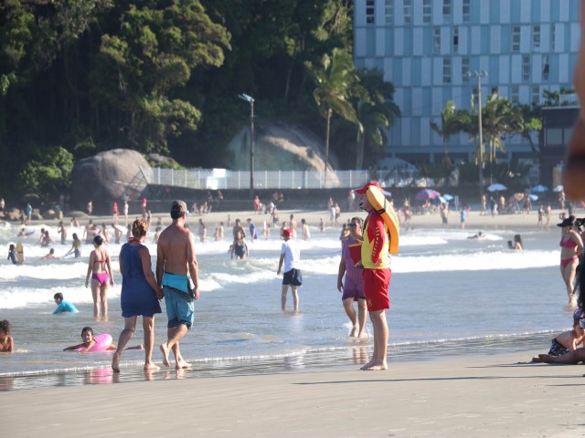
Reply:
[[[306,66],[316,84],[313,91],[314,101],[326,123],[324,166],[324,185],[326,187],[331,118],[334,114],[338,114],[361,127],[361,123],[356,117],[356,110],[347,100],[356,82],[356,72],[351,56],[340,48],[334,48],[331,57],[325,54],[321,59],[320,66],[314,67],[311,63],[307,63]]]

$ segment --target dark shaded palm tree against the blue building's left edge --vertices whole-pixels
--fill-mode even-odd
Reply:
[[[363,131],[357,130],[356,170],[364,165],[364,150],[367,144],[380,148],[384,144],[383,128],[388,129],[399,117],[400,109],[392,101],[394,86],[385,82],[378,69],[357,72],[356,114]]]

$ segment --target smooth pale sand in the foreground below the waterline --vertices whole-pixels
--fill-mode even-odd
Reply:
[[[1,392],[2,430],[15,437],[585,436],[585,367],[518,363],[533,353],[390,363],[387,372],[179,374]]]

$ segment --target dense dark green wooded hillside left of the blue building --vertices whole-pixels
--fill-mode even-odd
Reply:
[[[399,109],[379,72],[354,71],[352,7],[351,0],[4,0],[2,195],[66,191],[74,162],[114,148],[222,167],[227,143],[250,121],[242,92],[256,99],[259,120],[300,122],[324,141],[327,132],[341,167],[372,165],[379,126],[391,126]],[[344,102],[324,106],[323,92],[315,93],[324,91],[317,83],[324,59],[343,60],[337,68],[347,70],[336,71],[346,80],[331,81],[327,99],[349,102],[353,113]]]

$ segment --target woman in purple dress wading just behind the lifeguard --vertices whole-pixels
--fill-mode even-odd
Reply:
[[[351,337],[361,338],[366,328],[366,296],[364,295],[364,280],[362,273],[356,268],[349,254],[349,245],[355,245],[362,241],[362,220],[352,217],[349,223],[350,236],[342,244],[341,261],[337,271],[337,290],[343,292],[341,300],[346,314],[352,324]],[[344,275],[346,281],[343,281]],[[354,302],[357,301],[357,318]]]

